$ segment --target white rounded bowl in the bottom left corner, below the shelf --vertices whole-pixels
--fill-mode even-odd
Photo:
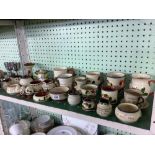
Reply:
[[[14,124],[9,128],[9,133],[11,135],[29,135],[30,130],[28,128],[24,128],[22,124]]]

